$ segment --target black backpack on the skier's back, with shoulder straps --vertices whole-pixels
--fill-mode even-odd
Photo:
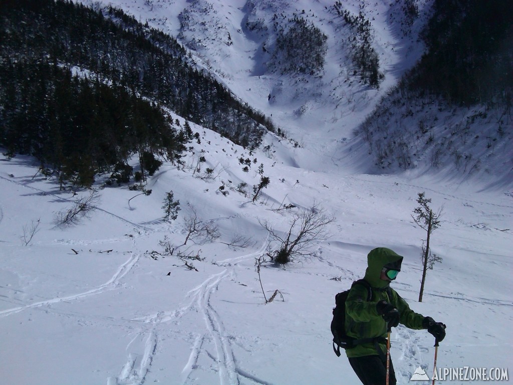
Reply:
[[[363,285],[367,287],[367,301],[370,301],[372,299],[372,288],[370,287],[370,284],[364,280],[359,279],[358,281],[354,281],[351,285]],[[388,297],[392,298],[392,293],[390,291],[390,287],[387,287],[387,293]],[[377,342],[381,340],[381,337],[378,338],[361,338],[356,339],[353,337],[350,337],[346,334],[346,328],[345,328],[345,322],[346,322],[346,299],[347,295],[349,294],[349,290],[346,290],[345,292],[338,293],[335,296],[335,307],[333,307],[333,319],[331,320],[331,333],[333,334],[333,351],[335,354],[340,357],[340,348],[342,349],[351,349],[354,348],[356,345],[359,345],[361,343],[368,343],[368,342]],[[337,347],[336,347],[337,345]]]

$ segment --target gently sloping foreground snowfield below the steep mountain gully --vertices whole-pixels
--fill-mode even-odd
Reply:
[[[412,309],[447,324],[439,367],[510,364],[511,192],[477,192],[429,178],[310,171],[260,150],[249,154],[193,127],[198,129],[202,144],[191,144],[194,155],[186,159],[191,169],[164,165],[148,181],[152,194],[130,203],[137,191],[101,189],[98,209],[75,226],[56,226],[55,213],[73,207],[87,191],[74,197],[59,191],[54,179],[33,177],[37,165],[31,159],[1,160],[3,383],[306,385],[343,377],[357,384],[347,361],[331,350],[331,307],[334,294],[363,276],[366,254],[376,246],[405,256],[393,286]],[[295,162],[307,162],[294,151]],[[193,177],[201,154],[207,164]],[[244,172],[239,157],[257,163]],[[235,187],[246,182],[251,191],[260,164],[271,184],[252,203]],[[198,178],[207,166],[215,170],[214,180]],[[163,221],[170,190],[182,210],[176,221]],[[422,303],[417,297],[425,234],[410,217],[420,191],[433,208],[445,207],[431,239],[443,263],[429,272]],[[259,220],[283,232],[288,217],[272,209],[315,203],[336,217],[328,228],[331,238],[313,245],[314,257],[286,269],[264,263],[267,298],[275,290],[283,295],[264,304],[255,258],[268,260],[266,252],[279,245]],[[189,205],[218,227],[219,239],[179,246]],[[236,236],[248,246],[228,247]],[[166,255],[166,245],[200,260]],[[393,331],[400,384],[419,365],[430,374],[432,343],[425,331]]]

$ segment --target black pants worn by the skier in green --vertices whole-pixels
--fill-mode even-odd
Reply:
[[[386,361],[380,356],[351,357],[349,363],[363,385],[386,385]],[[389,385],[396,385],[396,373],[390,359]]]

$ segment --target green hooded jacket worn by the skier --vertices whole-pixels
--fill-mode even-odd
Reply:
[[[356,284],[351,287],[345,306],[345,328],[348,336],[357,339],[387,337],[387,324],[376,310],[376,304],[381,300],[396,307],[401,315],[399,322],[407,328],[423,329],[424,316],[410,310],[406,301],[395,290],[391,289],[392,298],[388,298],[386,288],[390,282],[380,278],[381,271],[386,264],[392,264],[394,268],[400,270],[402,260],[403,257],[385,247],[375,248],[368,254],[364,279],[372,287],[372,298],[367,301],[368,291],[364,285]],[[386,354],[386,343],[380,342],[379,348],[382,350],[382,354]],[[374,343],[363,343],[346,349],[346,355],[347,357],[378,355],[378,350]]]

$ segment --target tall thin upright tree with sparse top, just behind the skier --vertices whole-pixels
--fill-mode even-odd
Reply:
[[[413,210],[411,218],[413,218],[413,221],[415,221],[420,228],[426,230],[427,233],[426,242],[424,243],[424,241],[422,241],[422,280],[419,293],[419,302],[422,302],[427,270],[432,270],[435,262],[442,261],[441,257],[438,257],[436,254],[431,254],[430,241],[433,230],[440,227],[440,218],[443,214],[443,206],[434,213],[428,205],[431,203],[431,199],[425,197],[425,192],[419,192],[417,203],[419,203],[420,206]]]

